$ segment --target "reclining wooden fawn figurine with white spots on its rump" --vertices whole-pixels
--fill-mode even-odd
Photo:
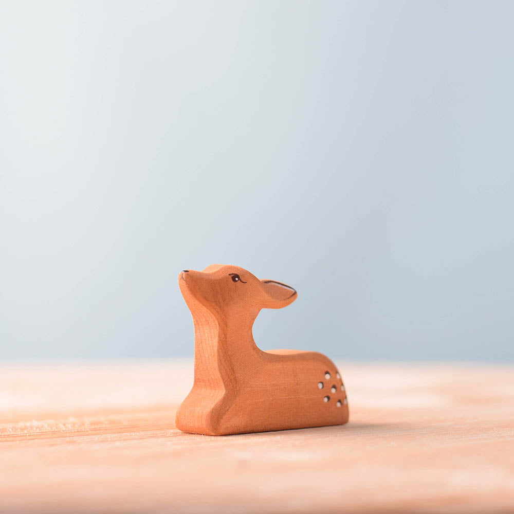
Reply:
[[[295,289],[219,264],[185,269],[178,283],[194,324],[194,383],[178,409],[178,429],[223,435],[348,421],[343,382],[330,359],[317,352],[263,352],[253,341],[259,311],[289,305]]]

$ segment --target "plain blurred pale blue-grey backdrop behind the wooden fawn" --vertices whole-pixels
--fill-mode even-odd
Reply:
[[[514,361],[513,19],[3,2],[0,358],[190,356],[222,263],[298,290],[264,349]]]

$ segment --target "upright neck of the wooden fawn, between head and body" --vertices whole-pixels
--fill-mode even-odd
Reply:
[[[196,310],[194,323],[195,383],[218,387],[243,376],[259,358],[252,326],[259,310],[229,314]]]

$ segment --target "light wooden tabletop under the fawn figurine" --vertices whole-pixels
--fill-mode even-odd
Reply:
[[[514,512],[514,367],[338,362],[350,423],[183,434],[189,360],[0,365],[0,512]]]

